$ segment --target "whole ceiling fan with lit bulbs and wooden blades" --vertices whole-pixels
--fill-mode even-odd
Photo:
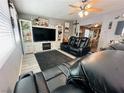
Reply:
[[[71,12],[70,15],[78,13],[80,17],[87,16],[89,12],[102,12],[101,8],[93,8],[92,6],[98,3],[100,0],[82,0],[82,2],[77,2],[75,4],[70,4]]]

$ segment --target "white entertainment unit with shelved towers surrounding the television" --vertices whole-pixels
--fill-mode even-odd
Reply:
[[[21,30],[24,54],[37,53],[37,52],[44,51],[43,50],[44,43],[50,43],[51,44],[50,49],[59,49],[60,48],[60,43],[63,40],[63,26],[62,25],[57,25],[55,27],[38,26],[38,25],[32,25],[32,22],[30,20],[24,20],[24,19],[20,19],[19,23],[20,23],[20,30]],[[55,41],[34,42],[32,27],[56,29],[56,40]]]

